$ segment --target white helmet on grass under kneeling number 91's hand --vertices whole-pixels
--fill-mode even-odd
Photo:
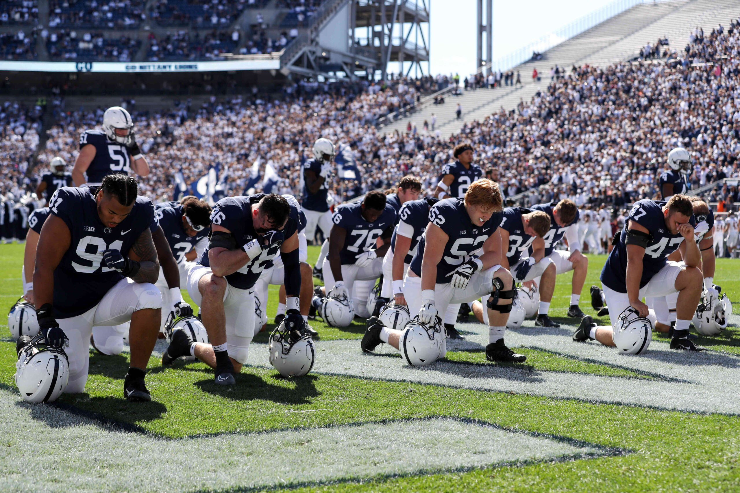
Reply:
[[[26,344],[16,361],[16,386],[27,402],[53,402],[70,378],[70,361],[61,347],[47,346],[44,336]]]

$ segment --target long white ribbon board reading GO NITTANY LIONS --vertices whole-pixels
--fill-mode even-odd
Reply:
[[[115,61],[0,61],[1,70],[18,72],[221,72],[225,70],[279,69],[280,58],[260,57],[228,61],[175,61],[132,63]]]

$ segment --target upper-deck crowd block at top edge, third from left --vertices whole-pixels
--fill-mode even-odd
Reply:
[[[157,0],[152,18],[161,26],[228,27],[245,7],[266,2],[247,0]]]

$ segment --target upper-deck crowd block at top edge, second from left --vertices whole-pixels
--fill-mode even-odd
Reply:
[[[139,29],[146,5],[144,0],[50,0],[49,27]]]

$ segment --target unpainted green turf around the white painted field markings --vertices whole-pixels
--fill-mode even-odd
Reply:
[[[22,245],[0,245],[0,278],[4,279],[0,285],[0,306],[6,309],[21,290],[22,252]],[[310,254],[315,256],[317,248],[311,248]],[[604,259],[605,256],[590,257],[591,268],[581,303],[587,313],[593,313],[588,307],[588,287],[597,283]],[[740,262],[729,259],[718,262],[716,282],[730,299],[740,299],[739,267]],[[565,316],[569,281],[568,274],[558,278],[551,308],[555,316]],[[276,305],[275,296],[271,295],[270,320]],[[360,324],[350,330],[337,330],[320,322],[313,324],[322,339],[357,339],[362,328]],[[7,327],[2,330],[3,336],[7,336]],[[707,346],[713,344],[713,349],[740,353],[739,338],[737,327],[730,327],[721,336],[700,341]],[[7,339],[0,342],[0,383],[9,389],[14,388],[13,349]],[[529,367],[536,371],[573,373],[573,378],[578,378],[579,373],[610,375],[616,379],[650,378],[632,370],[548,351],[520,350],[528,355]],[[451,351],[448,359],[484,364],[478,351]],[[59,402],[78,412],[96,413],[171,438],[445,415],[630,451],[619,457],[305,488],[311,492],[734,492],[739,489],[740,420],[736,416],[667,412],[334,375],[309,375],[292,380],[280,378],[274,370],[255,367],[242,370],[235,389],[223,390],[212,384],[212,372],[200,363],[178,363],[163,369],[152,358],[149,368],[147,381],[156,398],[151,405],[128,404],[122,399],[126,356],[92,356],[87,393],[64,395]]]

